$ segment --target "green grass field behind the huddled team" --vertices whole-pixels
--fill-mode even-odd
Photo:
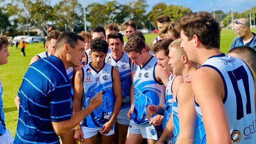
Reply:
[[[256,29],[252,29],[252,31],[255,33]],[[157,34],[145,35],[146,42],[150,44],[151,39],[156,36]],[[236,35],[232,30],[222,31],[221,52],[226,53],[228,51],[230,44],[235,36]],[[26,57],[23,57],[23,55],[20,54],[20,50],[13,48],[13,50],[9,50],[11,54],[8,58],[9,63],[0,66],[0,79],[2,80],[4,86],[3,99],[6,126],[13,136],[15,135],[18,119],[18,113],[14,99],[17,96],[17,91],[22,82],[22,77],[29,66],[30,59],[34,55],[46,50],[43,49],[42,46],[43,43],[27,44],[27,47],[25,48]]]

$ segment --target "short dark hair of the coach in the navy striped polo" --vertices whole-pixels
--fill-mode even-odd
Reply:
[[[56,50],[59,50],[65,44],[69,44],[71,48],[75,48],[75,46],[78,44],[78,40],[84,41],[83,37],[81,37],[75,32],[71,32],[71,31],[62,32],[57,39],[55,48]]]

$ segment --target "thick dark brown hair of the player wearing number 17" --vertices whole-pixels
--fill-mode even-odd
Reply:
[[[189,41],[193,35],[197,35],[206,49],[220,48],[221,27],[209,12],[199,11],[184,15],[176,22],[175,29],[183,30]]]

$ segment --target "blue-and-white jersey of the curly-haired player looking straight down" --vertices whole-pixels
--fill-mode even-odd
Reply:
[[[165,86],[156,79],[156,65],[157,58],[154,56],[151,56],[143,67],[133,63],[134,113],[131,116],[136,124],[149,122],[151,118],[146,117],[147,107],[152,104],[159,105],[160,98],[164,98]]]

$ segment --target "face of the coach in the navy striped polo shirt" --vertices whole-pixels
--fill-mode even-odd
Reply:
[[[85,57],[84,47],[85,43],[78,39],[75,48],[71,48],[71,46],[67,48],[67,62],[72,67],[80,67],[82,65],[81,61]]]

